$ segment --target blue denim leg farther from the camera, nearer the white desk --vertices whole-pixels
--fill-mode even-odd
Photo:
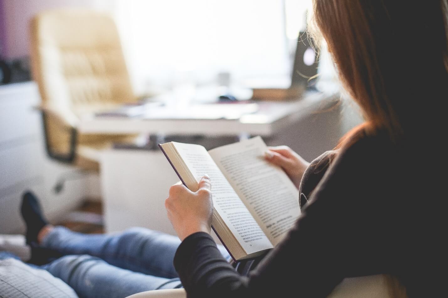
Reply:
[[[80,234],[55,227],[42,246],[65,255],[93,255],[109,264],[145,274],[174,278],[173,259],[181,241],[176,236],[145,228],[131,228],[120,234]],[[218,246],[227,260],[230,256]]]

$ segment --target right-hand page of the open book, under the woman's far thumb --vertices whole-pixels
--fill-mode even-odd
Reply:
[[[276,246],[300,215],[299,192],[280,167],[264,159],[266,149],[258,136],[209,153]]]

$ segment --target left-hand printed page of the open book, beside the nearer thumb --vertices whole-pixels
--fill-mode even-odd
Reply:
[[[272,248],[271,242],[216,166],[207,150],[200,145],[172,143],[196,181],[199,181],[205,174],[209,175],[213,207],[246,253],[251,254]]]

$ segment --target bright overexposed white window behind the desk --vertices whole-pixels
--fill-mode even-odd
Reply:
[[[109,2],[110,3],[110,2]],[[115,0],[137,92],[188,77],[215,82],[288,76],[310,0]]]

